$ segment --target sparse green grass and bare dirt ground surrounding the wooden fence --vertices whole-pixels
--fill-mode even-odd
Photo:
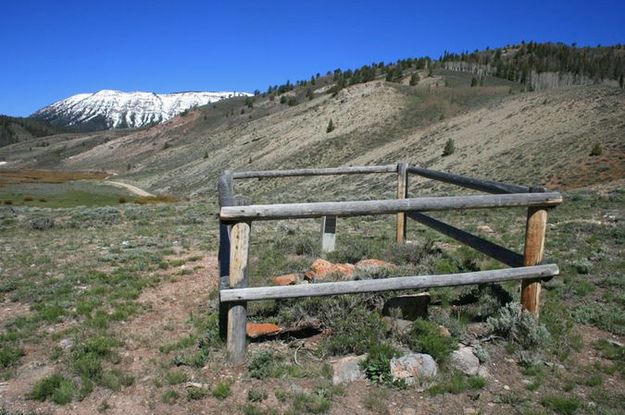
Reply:
[[[254,321],[286,327],[314,320],[319,330],[253,341],[248,364],[228,366],[217,328],[210,203],[120,204],[111,196],[92,207],[5,205],[0,414],[623,413],[625,188],[617,183],[564,197],[547,237],[547,255],[562,270],[545,284],[541,322],[549,339],[525,350],[518,339],[477,336],[500,312],[490,291],[467,304],[457,299],[474,294],[471,288],[432,290],[430,318],[458,341],[478,341],[488,375],[469,378],[443,363],[434,381],[405,388],[331,381],[331,364],[344,354],[332,351],[360,348],[341,336],[338,320],[365,318],[354,311],[363,305],[375,317],[384,297],[250,306]],[[472,231],[488,224],[489,238],[520,247],[522,211],[466,212],[461,221]],[[317,231],[315,221],[255,228],[252,282],[309,267],[319,255]],[[408,238],[425,256],[393,248],[392,237],[391,217],[341,221],[330,259],[378,257],[415,272],[496,265],[417,225]],[[420,248],[426,241],[436,249]],[[516,285],[500,288],[518,298]],[[348,303],[352,310],[335,310]],[[352,326],[369,320],[357,321]]]

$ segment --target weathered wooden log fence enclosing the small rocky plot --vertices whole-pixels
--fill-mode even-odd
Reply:
[[[395,174],[397,199],[347,202],[289,203],[247,205],[234,196],[235,179],[321,176],[339,174]],[[445,197],[408,197],[410,174],[451,183],[489,194]],[[425,289],[521,280],[521,304],[538,315],[541,280],[558,275],[555,264],[543,264],[547,209],[562,203],[558,192],[543,187],[481,180],[457,174],[428,170],[406,163],[385,166],[336,167],[319,169],[223,172],[219,190],[219,275],[220,331],[226,336],[231,362],[245,360],[247,301],[349,293]],[[425,215],[427,211],[527,207],[524,253],[513,252],[454,226]],[[321,243],[323,251],[335,245],[336,218],[362,215],[396,215],[396,241],[406,237],[406,218],[439,231],[488,255],[511,268],[447,275],[422,275],[327,282],[309,285],[248,287],[250,231],[253,221],[323,218]]]

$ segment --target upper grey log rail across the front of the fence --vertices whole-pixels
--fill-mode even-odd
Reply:
[[[438,211],[518,206],[555,206],[561,202],[562,197],[558,192],[422,197],[402,200],[224,206],[221,208],[219,217],[225,221],[298,219],[322,216],[382,215],[411,210]]]

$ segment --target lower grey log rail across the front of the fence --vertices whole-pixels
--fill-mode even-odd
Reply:
[[[394,290],[412,290],[434,287],[453,287],[459,285],[486,284],[519,280],[523,278],[547,278],[558,275],[558,273],[559,270],[557,265],[547,264],[531,267],[465,272],[460,274],[339,281],[319,284],[287,285],[281,287],[240,288],[220,291],[220,299],[223,302],[253,301]]]

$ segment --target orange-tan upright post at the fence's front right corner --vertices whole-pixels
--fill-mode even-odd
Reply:
[[[542,193],[542,187],[532,187],[530,193]],[[547,229],[547,208],[529,207],[525,228],[525,250],[523,265],[538,265],[543,260],[545,231]],[[521,304],[523,308],[538,317],[540,311],[540,279],[521,282]]]

